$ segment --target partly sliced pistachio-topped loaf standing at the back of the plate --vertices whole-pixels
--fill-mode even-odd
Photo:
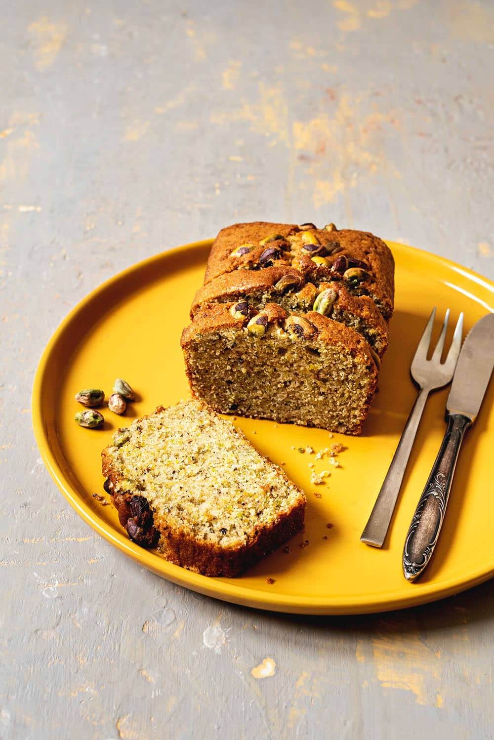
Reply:
[[[367,232],[239,223],[214,240],[182,348],[216,411],[359,434],[393,314],[394,262]]]

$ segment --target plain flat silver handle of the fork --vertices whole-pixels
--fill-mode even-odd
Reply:
[[[366,545],[381,548],[385,541],[428,395],[429,389],[422,388],[410,411],[410,416],[405,424],[402,437],[393,455],[393,460],[391,460],[371,516],[360,537],[361,542],[365,542]]]

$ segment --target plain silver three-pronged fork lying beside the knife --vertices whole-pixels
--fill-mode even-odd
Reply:
[[[430,337],[432,335],[435,317],[436,308],[433,308],[410,366],[410,374],[420,388],[419,395],[416,397],[416,401],[410,411],[410,416],[407,419],[390,468],[379,491],[379,496],[376,499],[371,516],[360,537],[361,542],[365,542],[366,545],[372,545],[374,548],[381,548],[385,541],[427,397],[430,391],[434,391],[436,388],[444,388],[448,383],[451,383],[456,368],[456,361],[460,354],[461,333],[463,331],[462,313],[456,324],[450,351],[447,353],[444,363],[441,363],[447,322],[450,317],[450,309],[447,309],[436,349],[434,349],[433,356],[430,360],[427,360],[427,352],[429,351]]]

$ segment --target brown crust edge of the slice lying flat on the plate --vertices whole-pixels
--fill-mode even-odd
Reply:
[[[197,400],[200,406],[214,413],[208,404]],[[160,414],[165,409],[158,406],[155,414]],[[147,414],[141,420],[151,417],[153,414]],[[139,420],[138,420],[139,421]],[[240,437],[250,444],[242,431],[234,430]],[[112,503],[118,511],[118,519],[125,528],[127,520],[131,516],[130,500],[132,494],[119,490],[121,484],[121,474],[115,470],[112,456],[109,453],[109,445],[101,452],[102,473],[107,481],[109,488],[113,491],[111,494]],[[288,477],[281,468],[274,465],[271,460],[263,457],[271,468],[274,468],[281,477],[288,481]],[[291,483],[291,486],[299,492],[300,497],[297,504],[290,511],[283,512],[279,515],[276,522],[271,525],[260,525],[250,536],[246,545],[240,547],[220,547],[214,542],[201,542],[185,530],[173,528],[166,521],[165,517],[158,517],[156,511],[152,511],[153,525],[158,530],[159,542],[158,550],[169,562],[187,568],[189,571],[201,573],[205,576],[238,576],[240,573],[254,565],[257,560],[276,550],[283,542],[297,534],[303,527],[305,517],[305,495],[301,489]],[[140,492],[146,497],[146,491]]]

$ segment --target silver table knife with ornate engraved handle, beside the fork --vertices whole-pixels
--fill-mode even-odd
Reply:
[[[446,403],[447,428],[403,549],[403,573],[413,582],[436,547],[464,433],[476,420],[494,367],[494,314],[482,317],[461,348]]]

